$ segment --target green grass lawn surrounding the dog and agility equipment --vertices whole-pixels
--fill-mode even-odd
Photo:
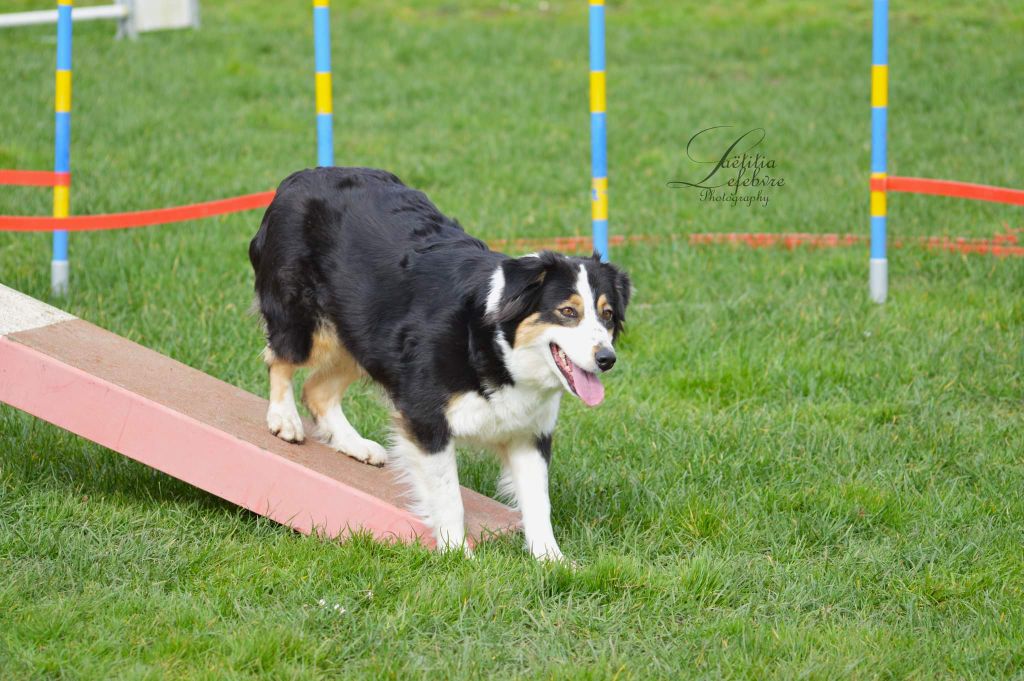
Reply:
[[[586,233],[585,3],[344,4],[339,163],[394,170],[487,239]],[[613,231],[865,231],[868,5],[609,4]],[[313,162],[308,6],[203,8],[201,31],[135,43],[76,28],[73,212]],[[1009,0],[894,4],[893,173],[1024,186],[1022,31]],[[0,36],[0,167],[47,168],[52,30]],[[765,208],[665,186],[725,124],[767,130],[787,184]],[[0,188],[0,213],[48,201]],[[1024,226],[937,198],[890,214],[904,238]],[[55,302],[261,392],[257,222],[74,235]],[[48,257],[46,236],[0,235],[0,281],[51,300]],[[465,561],[300,537],[0,408],[0,677],[1019,676],[1024,260],[896,250],[880,307],[861,249],[614,257],[638,289],[621,367],[555,436],[577,570],[514,538]],[[384,435],[370,390],[350,412]],[[496,464],[466,454],[493,494]]]

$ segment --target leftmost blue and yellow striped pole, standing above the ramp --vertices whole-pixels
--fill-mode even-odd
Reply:
[[[54,98],[53,172],[70,178],[71,173],[71,6],[72,0],[57,0],[57,69]],[[71,182],[53,186],[53,217],[68,217],[71,209]],[[68,292],[68,232],[53,231],[53,258],[50,261],[50,289],[54,295]]]

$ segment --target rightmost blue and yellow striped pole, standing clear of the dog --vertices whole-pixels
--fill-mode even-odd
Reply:
[[[886,128],[889,112],[889,0],[874,0],[871,44],[871,300],[889,295],[886,255]]]

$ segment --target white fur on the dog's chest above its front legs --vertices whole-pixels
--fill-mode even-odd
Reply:
[[[445,416],[457,439],[495,446],[553,431],[560,400],[560,389],[539,390],[519,383],[489,397],[461,393],[449,402]]]

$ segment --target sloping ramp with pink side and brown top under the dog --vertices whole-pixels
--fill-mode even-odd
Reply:
[[[0,401],[301,533],[434,545],[393,470],[285,442],[265,399],[3,285]],[[513,509],[462,497],[471,545],[518,528]]]

